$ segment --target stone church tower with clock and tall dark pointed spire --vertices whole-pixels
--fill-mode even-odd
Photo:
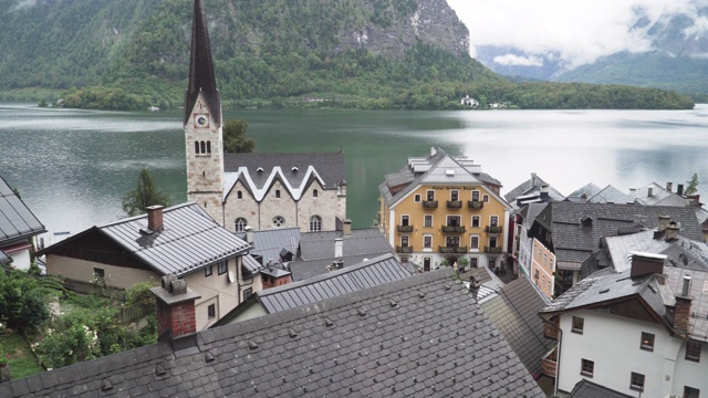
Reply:
[[[223,149],[221,96],[217,90],[207,18],[195,0],[189,85],[185,93],[187,200],[223,224]]]

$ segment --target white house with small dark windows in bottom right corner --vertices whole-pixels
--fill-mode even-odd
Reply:
[[[634,252],[629,269],[597,271],[540,312],[558,341],[542,360],[556,394],[582,397],[583,380],[618,397],[708,391],[708,273],[668,265]]]

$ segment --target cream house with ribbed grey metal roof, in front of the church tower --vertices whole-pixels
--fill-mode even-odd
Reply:
[[[173,274],[192,286],[198,331],[262,289],[250,244],[221,228],[196,203],[148,208],[144,216],[92,227],[38,255],[46,273],[79,290],[128,289]]]

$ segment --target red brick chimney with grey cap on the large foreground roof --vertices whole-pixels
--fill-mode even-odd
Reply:
[[[195,302],[201,296],[187,289],[185,280],[165,275],[160,286],[150,289],[157,296],[158,341],[176,341],[197,333]]]

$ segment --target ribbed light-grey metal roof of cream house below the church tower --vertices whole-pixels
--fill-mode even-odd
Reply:
[[[88,233],[101,233],[163,275],[178,276],[246,252],[250,244],[219,226],[199,205],[184,203],[163,210],[164,230],[143,234],[147,214],[90,228],[40,252],[51,253]]]

